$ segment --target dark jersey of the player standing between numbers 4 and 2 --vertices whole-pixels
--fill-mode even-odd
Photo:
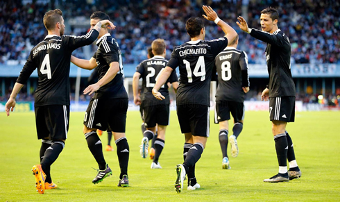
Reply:
[[[106,99],[106,98],[128,98],[123,82],[123,61],[121,60],[121,50],[117,41],[109,34],[103,35],[96,42],[98,49],[92,56],[96,59],[99,80],[103,78],[111,62],[119,63],[119,71],[116,76],[109,83],[103,85],[94,94],[94,99]]]

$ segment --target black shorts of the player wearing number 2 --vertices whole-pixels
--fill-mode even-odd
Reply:
[[[169,105],[146,106],[143,108],[143,120],[146,128],[155,127],[156,124],[169,125],[169,115]]]

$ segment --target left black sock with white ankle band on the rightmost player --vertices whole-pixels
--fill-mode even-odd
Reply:
[[[279,173],[287,173],[287,151],[288,142],[285,133],[280,133],[274,136],[276,155],[279,162]]]

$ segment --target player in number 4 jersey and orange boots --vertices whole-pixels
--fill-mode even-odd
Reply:
[[[69,68],[71,53],[78,47],[92,44],[101,31],[101,26],[114,28],[104,20],[81,37],[64,35],[65,24],[62,11],[49,10],[44,15],[44,26],[49,35],[35,46],[15,83],[5,110],[7,116],[15,108],[15,98],[37,68],[38,85],[35,90],[35,123],[37,138],[42,139],[40,164],[32,168],[37,192],[57,187],[52,182],[51,165],[65,146],[69,129]]]

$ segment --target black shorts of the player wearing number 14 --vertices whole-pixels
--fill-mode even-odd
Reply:
[[[182,133],[192,133],[194,136],[209,137],[210,107],[203,105],[177,106],[177,117]]]

